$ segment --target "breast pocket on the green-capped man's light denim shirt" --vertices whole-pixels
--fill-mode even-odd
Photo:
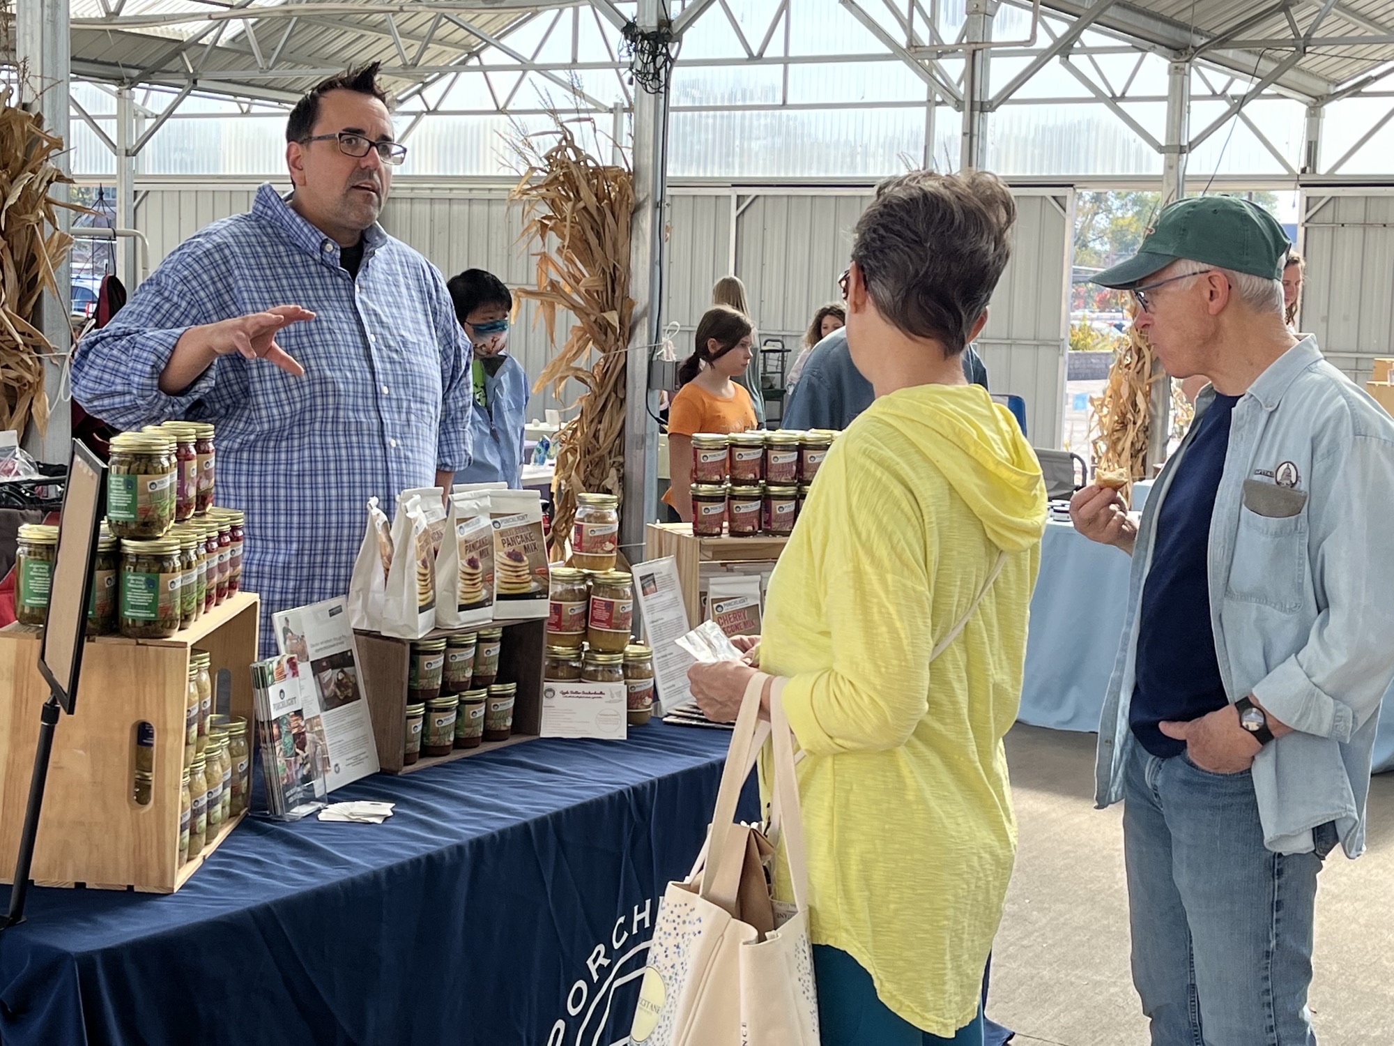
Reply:
[[[1274,484],[1245,481],[1243,506],[1230,566],[1232,600],[1257,602],[1284,614],[1302,608],[1306,576],[1306,494]]]

